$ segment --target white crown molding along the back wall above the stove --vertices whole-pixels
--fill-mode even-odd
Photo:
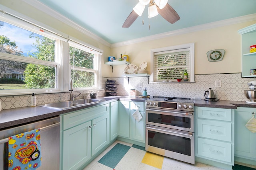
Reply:
[[[129,41],[123,41],[120,43],[113,43],[113,44],[111,44],[111,48],[112,47],[121,47],[124,45],[130,45],[130,44],[134,44],[134,43],[141,43],[141,42],[145,42],[145,41],[151,41],[151,40],[155,40],[155,39],[161,39],[161,38],[185,34],[185,33],[192,33],[192,32],[196,32],[196,31],[202,31],[202,30],[222,27],[222,26],[226,26],[226,25],[233,25],[233,24],[242,23],[242,22],[254,21],[254,20],[256,20],[256,14],[250,14],[250,15],[246,15],[246,16],[240,16],[240,17],[231,18],[231,19],[227,19],[227,20],[206,23],[206,24],[197,25],[194,27],[178,29],[175,31],[169,31],[169,32],[151,35],[151,36],[147,36],[147,37],[142,37],[142,38],[138,38],[138,39],[132,39]]]

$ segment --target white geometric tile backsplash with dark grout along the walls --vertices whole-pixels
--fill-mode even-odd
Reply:
[[[107,77],[102,77],[102,88],[105,89]],[[142,95],[143,89],[147,88],[150,96],[170,96],[170,97],[200,97],[204,98],[204,92],[209,88],[214,90],[216,98],[228,101],[248,101],[244,96],[244,90],[248,89],[248,82],[255,81],[256,78],[241,78],[241,73],[232,74],[200,74],[195,75],[195,83],[149,83],[147,77],[131,77],[128,84],[128,78],[108,78],[116,80],[116,90],[118,96],[129,96],[131,88],[136,89],[136,96]],[[221,81],[221,87],[215,87],[215,80]],[[80,94],[81,93],[81,94]],[[105,96],[105,90],[96,91],[74,91],[74,95],[80,94],[76,99],[90,98],[89,93],[98,93],[98,96]],[[30,106],[30,96],[2,96],[2,109],[18,108]],[[36,104],[48,104],[69,100],[70,93],[56,94],[35,94]]]

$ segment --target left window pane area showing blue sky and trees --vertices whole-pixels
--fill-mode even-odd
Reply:
[[[0,89],[56,89],[56,41],[0,21]]]

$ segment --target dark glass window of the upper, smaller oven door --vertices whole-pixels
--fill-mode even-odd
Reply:
[[[190,118],[172,115],[148,113],[148,122],[190,128]]]

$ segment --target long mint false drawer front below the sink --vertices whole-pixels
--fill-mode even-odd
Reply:
[[[90,107],[63,115],[63,130],[80,125],[109,112],[109,104]]]

